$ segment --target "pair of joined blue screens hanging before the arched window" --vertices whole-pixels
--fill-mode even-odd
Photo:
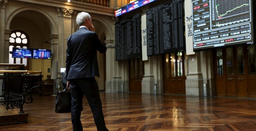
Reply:
[[[51,59],[51,50],[13,47],[12,58]]]

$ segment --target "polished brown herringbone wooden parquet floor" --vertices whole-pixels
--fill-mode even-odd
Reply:
[[[109,131],[256,131],[256,99],[100,92]],[[28,123],[5,131],[72,131],[70,113],[57,114],[55,96],[24,104]],[[96,131],[86,99],[81,121]]]

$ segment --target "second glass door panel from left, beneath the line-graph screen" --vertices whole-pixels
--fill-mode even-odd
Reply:
[[[227,74],[234,75],[233,48],[226,48],[227,52]]]

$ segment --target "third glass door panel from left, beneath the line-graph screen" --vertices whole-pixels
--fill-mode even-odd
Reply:
[[[244,74],[244,48],[242,46],[237,47],[237,74]]]

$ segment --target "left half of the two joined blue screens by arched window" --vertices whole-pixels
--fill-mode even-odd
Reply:
[[[32,58],[32,50],[27,48],[12,48],[12,58]]]

